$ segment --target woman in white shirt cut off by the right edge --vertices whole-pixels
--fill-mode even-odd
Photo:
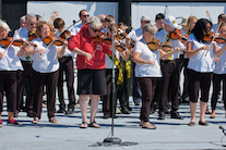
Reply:
[[[225,38],[226,37],[226,23],[223,23],[219,26],[218,29],[218,37]],[[221,91],[221,80],[223,80],[223,101],[224,101],[224,108],[226,110],[226,38],[223,40],[223,43],[217,43],[216,48],[216,53],[215,55],[218,57],[218,61],[215,64],[215,68],[213,71],[213,95],[211,98],[211,108],[212,108],[212,114],[210,118],[215,117],[215,109],[216,109],[216,103],[218,99],[218,93]],[[219,49],[219,50],[218,50]],[[226,112],[226,111],[225,111]],[[226,116],[226,113],[225,113]]]

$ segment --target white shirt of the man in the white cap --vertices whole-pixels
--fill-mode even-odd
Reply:
[[[167,34],[168,34],[168,32],[166,32],[166,29],[163,28],[160,32],[156,33],[155,38],[160,40],[160,42],[167,42]],[[178,39],[174,40],[170,38],[170,42],[173,45],[173,48],[179,47],[181,49],[186,49],[185,45]],[[178,51],[178,52],[174,53],[170,58],[171,58],[171,60],[176,60],[176,59],[179,59],[180,54],[181,54],[181,51]]]

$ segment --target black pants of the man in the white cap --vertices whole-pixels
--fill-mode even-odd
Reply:
[[[171,113],[179,109],[178,87],[180,75],[179,60],[165,60],[162,65],[163,78],[159,80],[160,93],[158,101],[159,113],[167,110],[167,96],[171,100]]]

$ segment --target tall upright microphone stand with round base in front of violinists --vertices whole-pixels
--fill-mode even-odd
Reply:
[[[116,75],[115,75],[115,47],[114,47],[114,27],[110,28],[111,30],[111,49],[112,49],[112,77],[111,77],[111,84],[112,84],[112,101],[111,101],[111,137],[105,138],[104,142],[110,142],[112,145],[119,145],[121,143],[121,139],[114,137],[114,117],[115,117],[115,110],[116,110]]]

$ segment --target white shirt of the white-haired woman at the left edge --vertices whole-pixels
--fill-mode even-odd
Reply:
[[[0,52],[3,53],[7,48],[0,46]],[[4,55],[0,59],[0,71],[23,71],[23,66],[17,57],[19,47],[11,46]]]

